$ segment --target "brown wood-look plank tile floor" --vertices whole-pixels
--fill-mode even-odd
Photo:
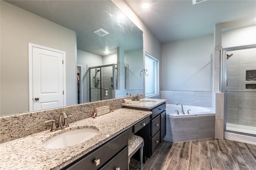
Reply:
[[[131,159],[130,170],[138,167]],[[142,170],[256,170],[256,145],[216,138],[164,141]]]

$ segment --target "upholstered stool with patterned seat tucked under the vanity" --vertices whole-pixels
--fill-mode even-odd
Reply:
[[[140,169],[142,168],[142,158],[143,158],[143,146],[144,146],[144,140],[142,137],[137,135],[132,135],[128,139],[128,157],[129,162],[132,157],[132,155],[137,152],[138,149],[140,149]]]

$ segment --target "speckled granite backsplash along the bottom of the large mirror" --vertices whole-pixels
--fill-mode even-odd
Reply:
[[[73,115],[68,118],[68,123],[72,123],[92,117],[94,108],[97,107],[109,105],[110,109],[120,109],[124,103],[123,99],[134,100],[134,96],[0,117],[0,143],[50,129],[51,123],[44,122],[56,120],[58,123],[60,112]]]

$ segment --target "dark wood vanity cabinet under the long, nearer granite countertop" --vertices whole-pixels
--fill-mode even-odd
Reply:
[[[128,138],[148,125],[150,125],[150,116],[62,170],[128,170]]]

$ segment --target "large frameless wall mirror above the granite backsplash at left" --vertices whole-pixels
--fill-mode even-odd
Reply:
[[[143,32],[110,0],[0,3],[0,116],[33,111],[29,44],[65,52],[65,105],[143,93]]]

